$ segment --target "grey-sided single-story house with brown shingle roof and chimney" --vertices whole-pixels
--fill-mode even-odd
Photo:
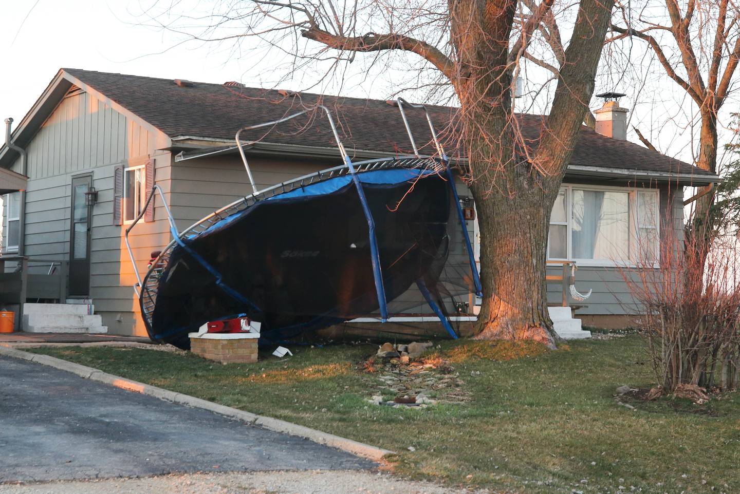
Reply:
[[[28,177],[25,192],[4,200],[0,301],[83,302],[92,310],[92,300],[98,331],[102,324],[115,334],[146,334],[132,289],[134,269],[144,271],[151,252],[170,240],[165,206],[155,197],[131,231],[137,265],[130,263],[124,232],[147,191],[161,187],[178,230],[184,229],[251,192],[232,149],[237,129],[317,102],[334,112],[353,159],[408,152],[398,110],[385,101],[59,70],[13,130],[12,146],[0,148],[0,169]],[[444,128],[455,110],[437,106],[431,112]],[[423,115],[409,118],[419,129],[418,142],[428,140]],[[536,145],[544,117],[520,118],[525,138]],[[597,111],[597,120],[601,133],[583,127],[568,165],[552,214],[549,257],[575,260],[579,287],[593,290],[579,309],[582,320],[624,326],[631,299],[619,265],[658,256],[659,239],[669,230],[682,234],[684,186],[719,179],[626,141],[626,110],[614,102]],[[260,188],[342,163],[326,125],[301,125],[243,136],[258,141],[247,152]],[[176,158],[180,153],[189,159]],[[462,183],[458,189],[469,200]],[[18,273],[27,274],[22,286]],[[560,302],[561,288],[548,290],[550,302]]]

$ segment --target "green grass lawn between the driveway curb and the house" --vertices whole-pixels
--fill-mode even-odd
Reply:
[[[652,382],[640,336],[536,356],[528,347],[504,361],[496,343],[441,345],[470,399],[424,410],[365,401],[378,383],[358,366],[370,345],[292,347],[292,358],[252,365],[140,349],[33,351],[397,451],[391,462],[404,476],[527,493],[740,492],[740,393],[702,406],[616,404],[617,386]]]

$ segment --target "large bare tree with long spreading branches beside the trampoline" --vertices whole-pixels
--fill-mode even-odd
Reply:
[[[532,146],[518,130],[511,87],[534,33],[542,32],[554,5],[571,6],[576,15],[570,41],[559,45],[554,98]],[[545,297],[548,224],[593,94],[612,7],[613,0],[562,5],[555,0],[221,0],[200,33],[182,32],[202,41],[255,36],[292,55],[293,71],[329,63],[336,75],[357,53],[366,53],[374,64],[383,55],[392,64],[391,54],[421,61],[420,85],[446,85],[460,105],[462,158],[481,231],[479,337],[553,345]],[[203,17],[191,20],[191,26],[203,24]],[[560,37],[559,31],[547,32]]]

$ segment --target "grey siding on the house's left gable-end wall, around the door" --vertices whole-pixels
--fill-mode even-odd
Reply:
[[[98,202],[92,206],[90,297],[95,311],[113,323],[112,333],[145,334],[132,285],[135,277],[124,244],[126,226],[112,224],[113,171],[155,158],[156,181],[169,194],[169,145],[166,135],[115,111],[84,92],[68,95],[27,146],[26,250],[33,257],[68,260],[70,256],[71,183],[75,175],[92,175]],[[19,170],[19,160],[12,169]],[[5,217],[5,212],[3,212]],[[161,200],[155,200],[155,222],[140,223],[131,234],[135,257],[143,270],[152,250],[169,241]],[[123,324],[116,325],[119,313]]]

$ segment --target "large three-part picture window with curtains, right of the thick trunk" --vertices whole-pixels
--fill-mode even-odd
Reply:
[[[654,262],[658,239],[656,190],[562,186],[551,214],[548,259]]]

